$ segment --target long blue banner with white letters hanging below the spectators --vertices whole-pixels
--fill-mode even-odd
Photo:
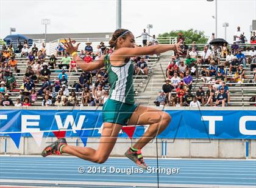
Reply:
[[[166,110],[172,121],[158,138],[256,139],[254,110]],[[21,133],[31,136],[101,136],[101,110],[1,110],[0,136]],[[145,127],[137,126],[133,138],[140,137]],[[119,136],[127,137],[120,132]]]

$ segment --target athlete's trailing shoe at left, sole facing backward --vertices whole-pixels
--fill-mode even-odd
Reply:
[[[48,155],[62,155],[62,153],[60,152],[60,147],[63,145],[67,145],[66,139],[60,138],[57,141],[55,141],[54,143],[52,143],[51,145],[44,148],[41,155],[43,157],[48,156]]]

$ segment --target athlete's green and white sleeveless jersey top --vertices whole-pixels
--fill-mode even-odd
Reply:
[[[105,67],[108,73],[110,93],[108,98],[115,101],[134,104],[133,90],[133,63],[131,60],[121,66],[113,66],[109,59],[110,54],[105,56]]]

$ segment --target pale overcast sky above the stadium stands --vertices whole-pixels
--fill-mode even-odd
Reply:
[[[206,0],[123,0],[122,27],[141,34],[152,24],[151,34],[171,30],[215,32],[215,2]],[[48,33],[113,32],[116,29],[116,0],[0,0],[0,38],[15,33],[44,33],[41,19],[51,19]],[[218,0],[218,37],[224,38],[223,22],[228,22],[227,41],[233,41],[236,27],[250,36],[252,19],[256,19],[256,0]]]

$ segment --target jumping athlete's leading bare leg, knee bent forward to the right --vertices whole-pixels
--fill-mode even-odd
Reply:
[[[133,148],[142,149],[151,139],[165,130],[170,121],[171,116],[166,112],[151,107],[138,106],[135,112],[132,113],[128,125],[150,124],[150,126]]]

